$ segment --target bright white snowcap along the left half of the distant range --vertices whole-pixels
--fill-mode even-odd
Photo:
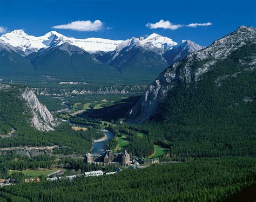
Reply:
[[[0,37],[0,43],[14,47],[15,50],[22,55],[29,55],[30,53],[41,50],[42,48],[48,48],[57,40],[68,42],[72,45],[83,48],[89,53],[95,53],[97,51],[113,51],[123,42],[123,40],[101,38],[76,39],[65,37],[56,31],[48,32],[44,36],[35,37],[26,34],[23,30],[14,30],[10,33],[3,34]]]

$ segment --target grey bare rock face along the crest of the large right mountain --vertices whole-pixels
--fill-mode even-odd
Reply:
[[[148,120],[150,116],[157,112],[160,101],[165,99],[170,88],[180,82],[185,84],[191,81],[198,82],[200,76],[210,71],[217,60],[225,60],[232,52],[242,46],[255,43],[256,29],[254,27],[240,26],[237,31],[174,63],[151,83],[142,98],[127,113],[127,122],[142,123]],[[256,64],[255,57],[246,58],[246,60],[247,65],[254,69]]]

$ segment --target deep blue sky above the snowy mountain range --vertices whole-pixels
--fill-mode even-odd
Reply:
[[[75,38],[127,39],[156,32],[178,43],[182,39],[190,39],[197,44],[207,46],[213,40],[236,30],[240,25],[255,27],[255,2],[255,0],[0,0],[0,27],[8,31],[23,29],[26,33],[35,36],[42,36],[46,32],[55,30]],[[158,27],[159,24],[155,23],[161,19],[164,20],[164,27],[169,29],[153,29]],[[91,30],[99,30],[76,31],[52,28],[56,25],[86,20],[91,20],[92,23],[100,20],[91,24],[94,26]],[[147,23],[151,24],[146,26]],[[192,23],[211,25],[187,26]],[[177,26],[173,25],[181,27],[176,29]]]

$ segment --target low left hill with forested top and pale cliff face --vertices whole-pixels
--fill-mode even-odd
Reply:
[[[10,132],[19,126],[37,130],[54,130],[56,120],[37,99],[31,89],[22,86],[0,84],[0,131]]]

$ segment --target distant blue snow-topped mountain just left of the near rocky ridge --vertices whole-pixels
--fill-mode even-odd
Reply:
[[[172,39],[153,33],[127,39],[116,50],[99,55],[97,59],[116,67],[125,78],[151,80],[167,67],[161,55],[174,45],[177,43]]]

